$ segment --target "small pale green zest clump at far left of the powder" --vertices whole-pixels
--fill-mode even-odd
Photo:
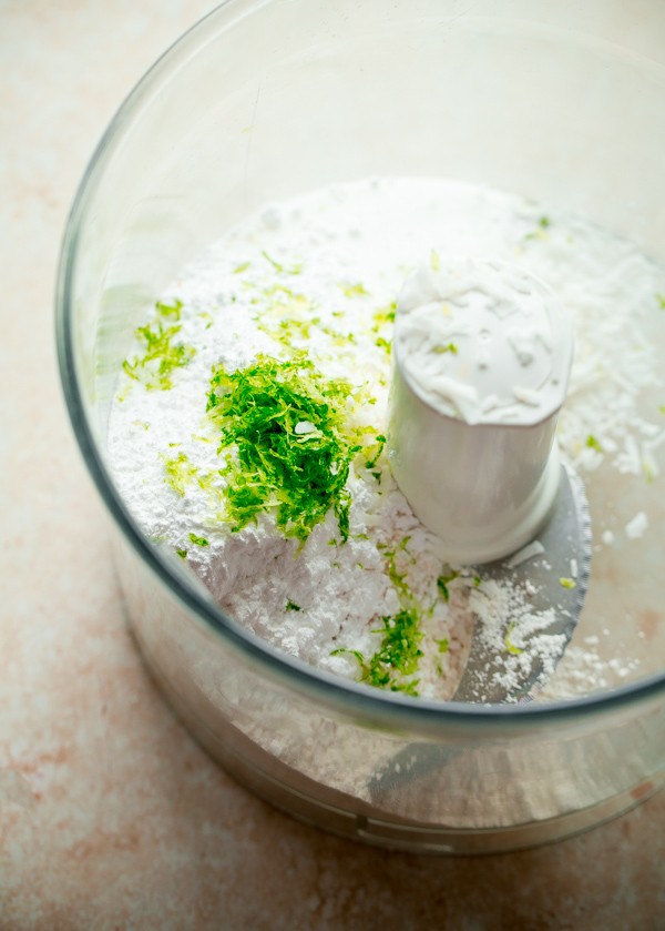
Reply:
[[[187,365],[194,358],[196,350],[175,342],[182,328],[178,322],[182,302],[165,304],[157,301],[155,308],[156,320],[135,331],[136,338],[145,344],[144,355],[126,358],[122,367],[130,378],[142,382],[147,391],[168,391],[173,387],[173,372]],[[175,323],[167,324],[167,321]]]

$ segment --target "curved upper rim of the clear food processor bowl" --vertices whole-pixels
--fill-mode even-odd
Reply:
[[[299,691],[328,707],[346,711],[355,718],[361,715],[365,720],[370,719],[390,727],[416,728],[420,732],[439,731],[441,728],[466,729],[477,725],[491,726],[498,729],[497,733],[518,733],[536,725],[540,727],[546,723],[581,723],[590,717],[595,720],[598,716],[624,711],[635,705],[647,705],[662,698],[665,695],[665,671],[652,674],[608,691],[542,705],[475,705],[413,698],[341,679],[279,652],[267,641],[242,628],[215,605],[212,596],[206,598],[198,585],[190,581],[184,574],[182,578],[177,578],[170,569],[170,558],[147,540],[116,492],[85,413],[84,391],[79,377],[74,346],[73,282],[79,259],[79,232],[85,220],[86,206],[115,148],[131,127],[134,111],[158,89],[160,81],[168,75],[176,61],[195,54],[221,32],[232,28],[238,19],[257,12],[268,2],[269,0],[224,0],[156,59],[120,104],[93,150],[65,223],[55,282],[55,342],[60,382],[83,461],[115,528],[142,564],[165,586],[168,595],[184,605],[191,617],[206,631],[221,637],[227,646],[258,667],[262,674],[266,674],[272,680],[279,681],[289,690]],[[233,16],[228,17],[229,12]]]

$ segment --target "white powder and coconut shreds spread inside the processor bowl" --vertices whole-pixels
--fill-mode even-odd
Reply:
[[[187,266],[162,296],[162,313],[146,308],[153,335],[157,318],[162,332],[180,330],[168,352],[155,350],[144,365],[149,337],[130,351],[109,453],[145,533],[177,550],[239,623],[308,664],[357,679],[380,651],[386,619],[410,613],[422,655],[415,670],[392,676],[392,687],[446,699],[469,648],[471,607],[488,624],[493,618],[494,641],[508,650],[505,675],[532,656],[557,657],[561,644],[549,638],[546,616],[525,609],[522,593],[493,590],[482,569],[442,564],[438,538],[413,516],[380,453],[393,302],[432,251],[516,263],[556,293],[574,320],[576,345],[562,452],[586,473],[605,462],[654,478],[664,433],[637,413],[641,388],[655,378],[654,347],[640,321],[665,293],[663,270],[577,217],[468,184],[415,179],[358,182],[270,205]],[[175,346],[184,347],[180,356]],[[351,383],[356,399],[346,416],[366,431],[346,486],[346,542],[332,512],[304,546],[275,526],[274,502],[270,515],[237,532],[228,519],[219,469],[235,453],[218,453],[218,424],[206,413],[213,367],[233,373],[260,354],[288,361],[297,351],[327,378]],[[294,434],[305,443],[311,431],[303,421]],[[646,528],[640,520],[628,535]]]

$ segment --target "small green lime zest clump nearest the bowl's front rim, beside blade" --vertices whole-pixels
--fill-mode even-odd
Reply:
[[[382,634],[381,646],[367,660],[359,650],[337,649],[332,656],[350,654],[356,657],[360,666],[360,681],[375,688],[402,691],[417,696],[418,679],[403,677],[413,676],[418,670],[418,660],[422,656],[420,642],[423,634],[416,610],[402,609],[393,617],[382,617],[383,624],[372,634]]]

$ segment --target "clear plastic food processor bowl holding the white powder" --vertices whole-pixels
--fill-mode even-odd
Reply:
[[[612,650],[635,651],[620,687],[446,705],[334,679],[243,630],[144,538],[105,446],[146,304],[267,201],[368,175],[451,176],[570,206],[665,259],[662,4],[642,18],[618,3],[463,8],[229,0],[183,37],[123,104],[83,179],[58,340],[136,639],[191,731],[298,818],[377,844],[469,853],[563,838],[665,780],[662,505],[648,546],[594,558],[580,636],[606,629]],[[598,488],[592,509],[621,519],[640,504],[618,479]]]

